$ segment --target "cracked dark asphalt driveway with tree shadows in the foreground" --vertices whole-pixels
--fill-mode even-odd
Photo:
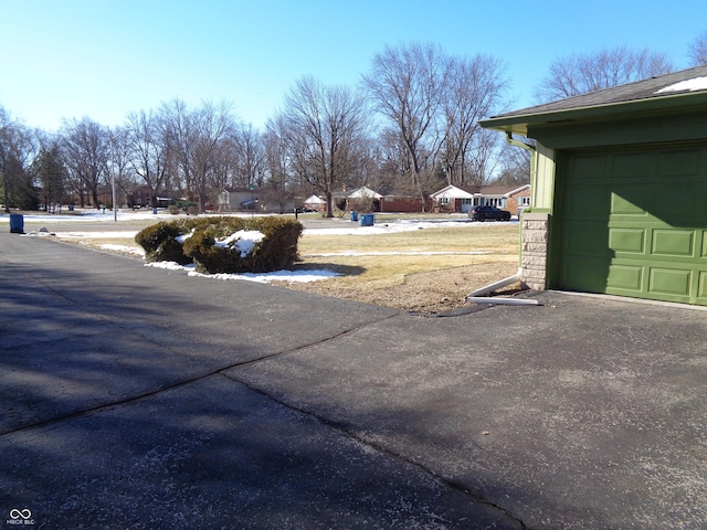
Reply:
[[[707,312],[421,317],[0,233],[0,524],[697,529]]]

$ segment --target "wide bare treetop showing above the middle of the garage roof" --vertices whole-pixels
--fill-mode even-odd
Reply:
[[[664,53],[625,45],[597,53],[570,55],[550,64],[550,72],[535,91],[539,103],[623,85],[667,74],[673,64]]]

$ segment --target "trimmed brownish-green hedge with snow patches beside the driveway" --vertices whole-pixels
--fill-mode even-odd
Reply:
[[[303,226],[283,218],[196,218],[162,221],[141,230],[135,241],[148,262],[193,263],[201,273],[270,273],[288,267],[297,258]],[[238,241],[217,246],[239,231],[256,231],[263,239],[247,254]],[[243,254],[243,255],[242,255]]]

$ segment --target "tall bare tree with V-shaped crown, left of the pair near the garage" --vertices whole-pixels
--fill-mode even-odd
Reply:
[[[443,138],[440,108],[445,95],[449,59],[436,45],[411,43],[386,46],[373,56],[371,72],[363,76],[376,110],[394,125],[404,148],[402,166],[424,201],[425,177]],[[424,173],[424,174],[423,174]]]

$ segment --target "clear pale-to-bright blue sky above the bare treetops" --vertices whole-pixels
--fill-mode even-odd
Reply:
[[[387,44],[502,60],[514,108],[560,56],[626,44],[688,66],[704,0],[0,0],[0,105],[28,126],[122,124],[180,98],[263,128],[303,75],[354,86]]]

